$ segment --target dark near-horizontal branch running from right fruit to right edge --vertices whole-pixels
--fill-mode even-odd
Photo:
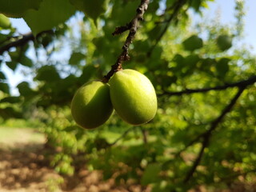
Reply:
[[[182,94],[205,93],[210,90],[226,90],[229,87],[249,86],[249,85],[254,84],[254,82],[256,82],[256,75],[251,76],[250,78],[248,78],[246,80],[242,80],[240,82],[227,83],[224,86],[215,86],[215,87],[208,87],[208,88],[195,89],[195,90],[186,89],[186,90],[182,90],[182,91],[178,91],[178,92],[164,91],[162,94],[158,94],[158,96],[162,96],[162,95],[173,96],[173,95],[182,95]]]

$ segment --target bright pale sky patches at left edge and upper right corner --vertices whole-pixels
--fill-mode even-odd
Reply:
[[[245,3],[245,33],[242,42],[254,47],[251,52],[256,55],[256,0],[245,0]],[[221,22],[225,25],[230,25],[230,23],[235,22],[234,6],[235,0],[215,0],[209,3],[209,9],[203,10],[204,18],[214,18],[218,11],[221,13]],[[194,19],[200,21],[200,19],[202,20],[203,18],[197,15]],[[14,27],[18,28],[19,33],[26,34],[30,32],[30,28],[22,19],[11,19],[11,22]],[[18,94],[18,90],[15,89],[15,87],[19,82],[32,80],[32,77],[24,77],[21,74],[21,68],[18,68],[15,72],[7,67],[3,67],[2,70],[5,70],[7,74],[13,94]]]

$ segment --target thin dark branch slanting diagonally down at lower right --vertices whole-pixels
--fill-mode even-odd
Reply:
[[[230,104],[227,105],[224,110],[222,110],[222,114],[218,116],[210,125],[210,129],[207,130],[203,135],[203,141],[201,149],[198,153],[198,157],[195,159],[193,166],[191,166],[190,171],[186,174],[186,178],[184,179],[184,183],[189,182],[190,178],[193,177],[194,172],[196,171],[199,163],[201,162],[202,156],[204,154],[204,150],[209,145],[210,137],[212,135],[212,132],[217,128],[218,124],[222,122],[222,119],[225,117],[226,114],[230,112],[230,110],[233,108],[234,104],[237,102],[238,98],[241,96],[242,92],[246,89],[246,86],[240,86],[238,93],[234,95],[234,98],[230,101]]]

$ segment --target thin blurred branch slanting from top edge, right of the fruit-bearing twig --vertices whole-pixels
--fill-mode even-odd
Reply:
[[[163,28],[161,34],[159,34],[158,38],[156,38],[155,43],[153,46],[151,46],[150,50],[147,52],[147,55],[150,56],[154,50],[154,48],[158,45],[158,42],[162,39],[163,35],[166,34],[166,31],[168,30],[168,27],[170,26],[170,22],[173,21],[173,19],[178,15],[178,11],[182,9],[182,6],[184,6],[186,3],[186,0],[177,0],[174,6],[171,8],[174,10],[172,14],[170,14],[170,18],[168,18],[165,21],[165,28]],[[170,10],[170,8],[166,8],[166,10]]]

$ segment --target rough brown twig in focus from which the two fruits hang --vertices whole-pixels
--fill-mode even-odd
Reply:
[[[126,30],[130,30],[130,32],[126,38],[126,42],[122,46],[122,53],[118,56],[118,59],[114,63],[114,65],[111,66],[110,72],[108,72],[108,74],[106,74],[103,77],[102,79],[103,82],[108,82],[115,72],[117,72],[118,70],[122,70],[122,62],[126,62],[130,59],[129,51],[128,51],[130,44],[132,43],[135,37],[135,34],[138,30],[138,22],[143,20],[143,15],[147,10],[149,4],[150,4],[150,0],[141,0],[141,3],[138,6],[138,9],[136,10],[136,15],[134,19],[126,26],[119,26],[114,30],[114,33],[113,33],[114,35],[122,34]]]

